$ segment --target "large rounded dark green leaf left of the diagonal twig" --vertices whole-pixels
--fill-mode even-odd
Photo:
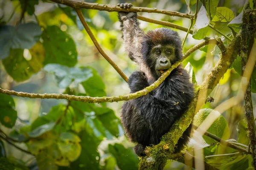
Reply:
[[[44,64],[57,63],[73,67],[77,62],[74,40],[58,26],[48,26],[42,34],[45,48]]]

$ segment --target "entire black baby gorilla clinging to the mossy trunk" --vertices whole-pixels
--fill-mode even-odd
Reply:
[[[131,4],[118,6],[130,8]],[[131,93],[134,93],[151,85],[182,58],[181,40],[176,31],[168,28],[157,28],[144,34],[139,28],[135,12],[119,12],[119,21],[128,56],[146,65],[150,74],[145,76],[142,71],[131,74],[128,85]],[[144,156],[146,146],[160,142],[163,134],[167,133],[186,111],[193,96],[194,88],[189,82],[189,75],[182,65],[179,65],[155,90],[124,102],[121,109],[122,125],[130,141],[138,143],[134,147],[137,155]],[[176,152],[183,149],[188,142],[190,131],[191,125],[179,139]]]

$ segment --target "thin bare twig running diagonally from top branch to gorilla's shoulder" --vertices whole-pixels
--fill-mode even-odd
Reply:
[[[125,76],[125,74],[122,72],[122,70],[116,65],[115,62],[113,62],[113,60],[108,57],[108,55],[105,53],[105,51],[101,48],[101,46],[99,45],[99,42],[96,40],[96,38],[94,37],[92,31],[90,30],[90,27],[88,26],[88,24],[86,23],[86,20],[84,20],[84,15],[81,11],[80,8],[75,8],[76,13],[81,21],[81,23],[83,24],[86,32],[88,33],[88,35],[90,36],[90,39],[93,41],[93,44],[96,46],[96,48],[98,49],[99,53],[102,54],[102,56],[112,65],[112,67],[117,71],[117,73],[125,80],[125,82],[128,82],[128,77]]]

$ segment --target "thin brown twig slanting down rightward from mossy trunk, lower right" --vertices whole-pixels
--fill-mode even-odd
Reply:
[[[193,126],[194,126],[197,130],[201,130],[201,129],[199,129],[199,127],[197,127],[196,125],[193,125]],[[239,150],[239,151],[244,152],[244,153],[249,153],[249,154],[251,154],[251,152],[250,152],[250,151],[248,152],[247,149],[245,149],[245,148],[243,148],[243,147],[237,146],[237,145],[235,144],[235,142],[234,142],[234,143],[232,143],[232,142],[227,142],[227,141],[225,141],[225,140],[219,138],[218,136],[216,136],[216,135],[214,135],[214,134],[212,134],[212,133],[209,133],[209,132],[207,132],[207,131],[204,132],[204,135],[209,136],[210,138],[214,139],[214,140],[217,141],[217,142],[220,142],[221,144],[223,144],[223,145],[225,145],[225,146],[231,147],[231,148],[233,148],[233,149]],[[244,146],[246,146],[246,145],[244,145]],[[246,146],[246,147],[248,147],[248,146]]]

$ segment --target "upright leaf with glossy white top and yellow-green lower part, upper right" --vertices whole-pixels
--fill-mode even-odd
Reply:
[[[194,25],[192,37],[196,40],[204,39],[209,30],[210,18],[204,6],[201,6]]]

